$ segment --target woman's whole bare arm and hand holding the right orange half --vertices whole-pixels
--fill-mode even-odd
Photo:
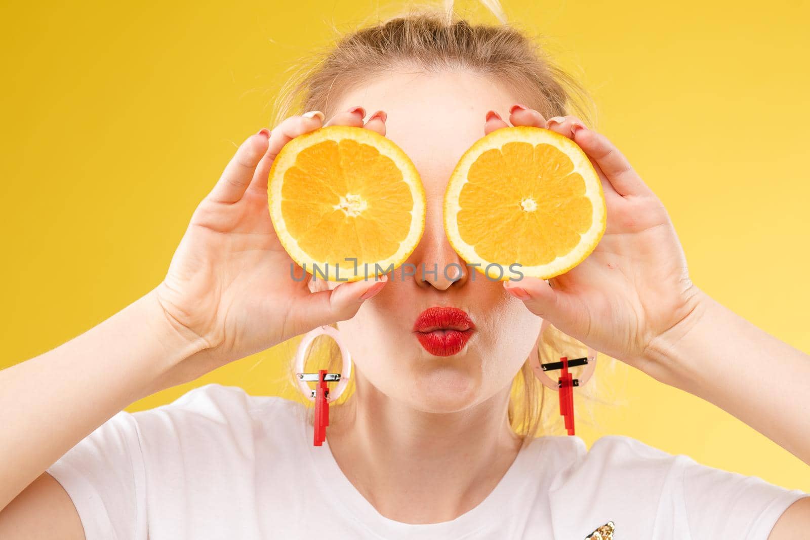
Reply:
[[[506,290],[565,334],[714,403],[810,464],[810,357],[692,283],[663,203],[608,138],[576,117],[547,122],[536,111],[521,114],[530,113],[586,152],[602,181],[608,223],[580,265],[548,283],[505,282]],[[763,363],[781,374],[779,385],[755,376]],[[810,529],[807,499],[782,514],[770,538],[801,538],[792,532],[802,527]]]

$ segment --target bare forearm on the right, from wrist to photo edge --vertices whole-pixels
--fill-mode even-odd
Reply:
[[[714,403],[810,465],[810,356],[704,292],[646,351],[661,382]]]

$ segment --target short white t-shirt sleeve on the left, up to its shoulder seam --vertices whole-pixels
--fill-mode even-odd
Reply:
[[[70,495],[87,540],[146,540],[146,475],[133,415],[122,410],[46,472]]]

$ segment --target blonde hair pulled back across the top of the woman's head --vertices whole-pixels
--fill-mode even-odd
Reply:
[[[444,9],[411,7],[379,23],[339,36],[335,44],[296,62],[279,92],[278,125],[295,113],[318,110],[332,116],[336,96],[360,87],[386,70],[418,66],[426,71],[462,67],[512,88],[522,104],[544,117],[575,114],[593,125],[595,103],[571,75],[514,25],[505,23],[497,0],[481,0],[501,24],[471,24],[456,17],[452,0]],[[595,127],[595,126],[594,126]]]

